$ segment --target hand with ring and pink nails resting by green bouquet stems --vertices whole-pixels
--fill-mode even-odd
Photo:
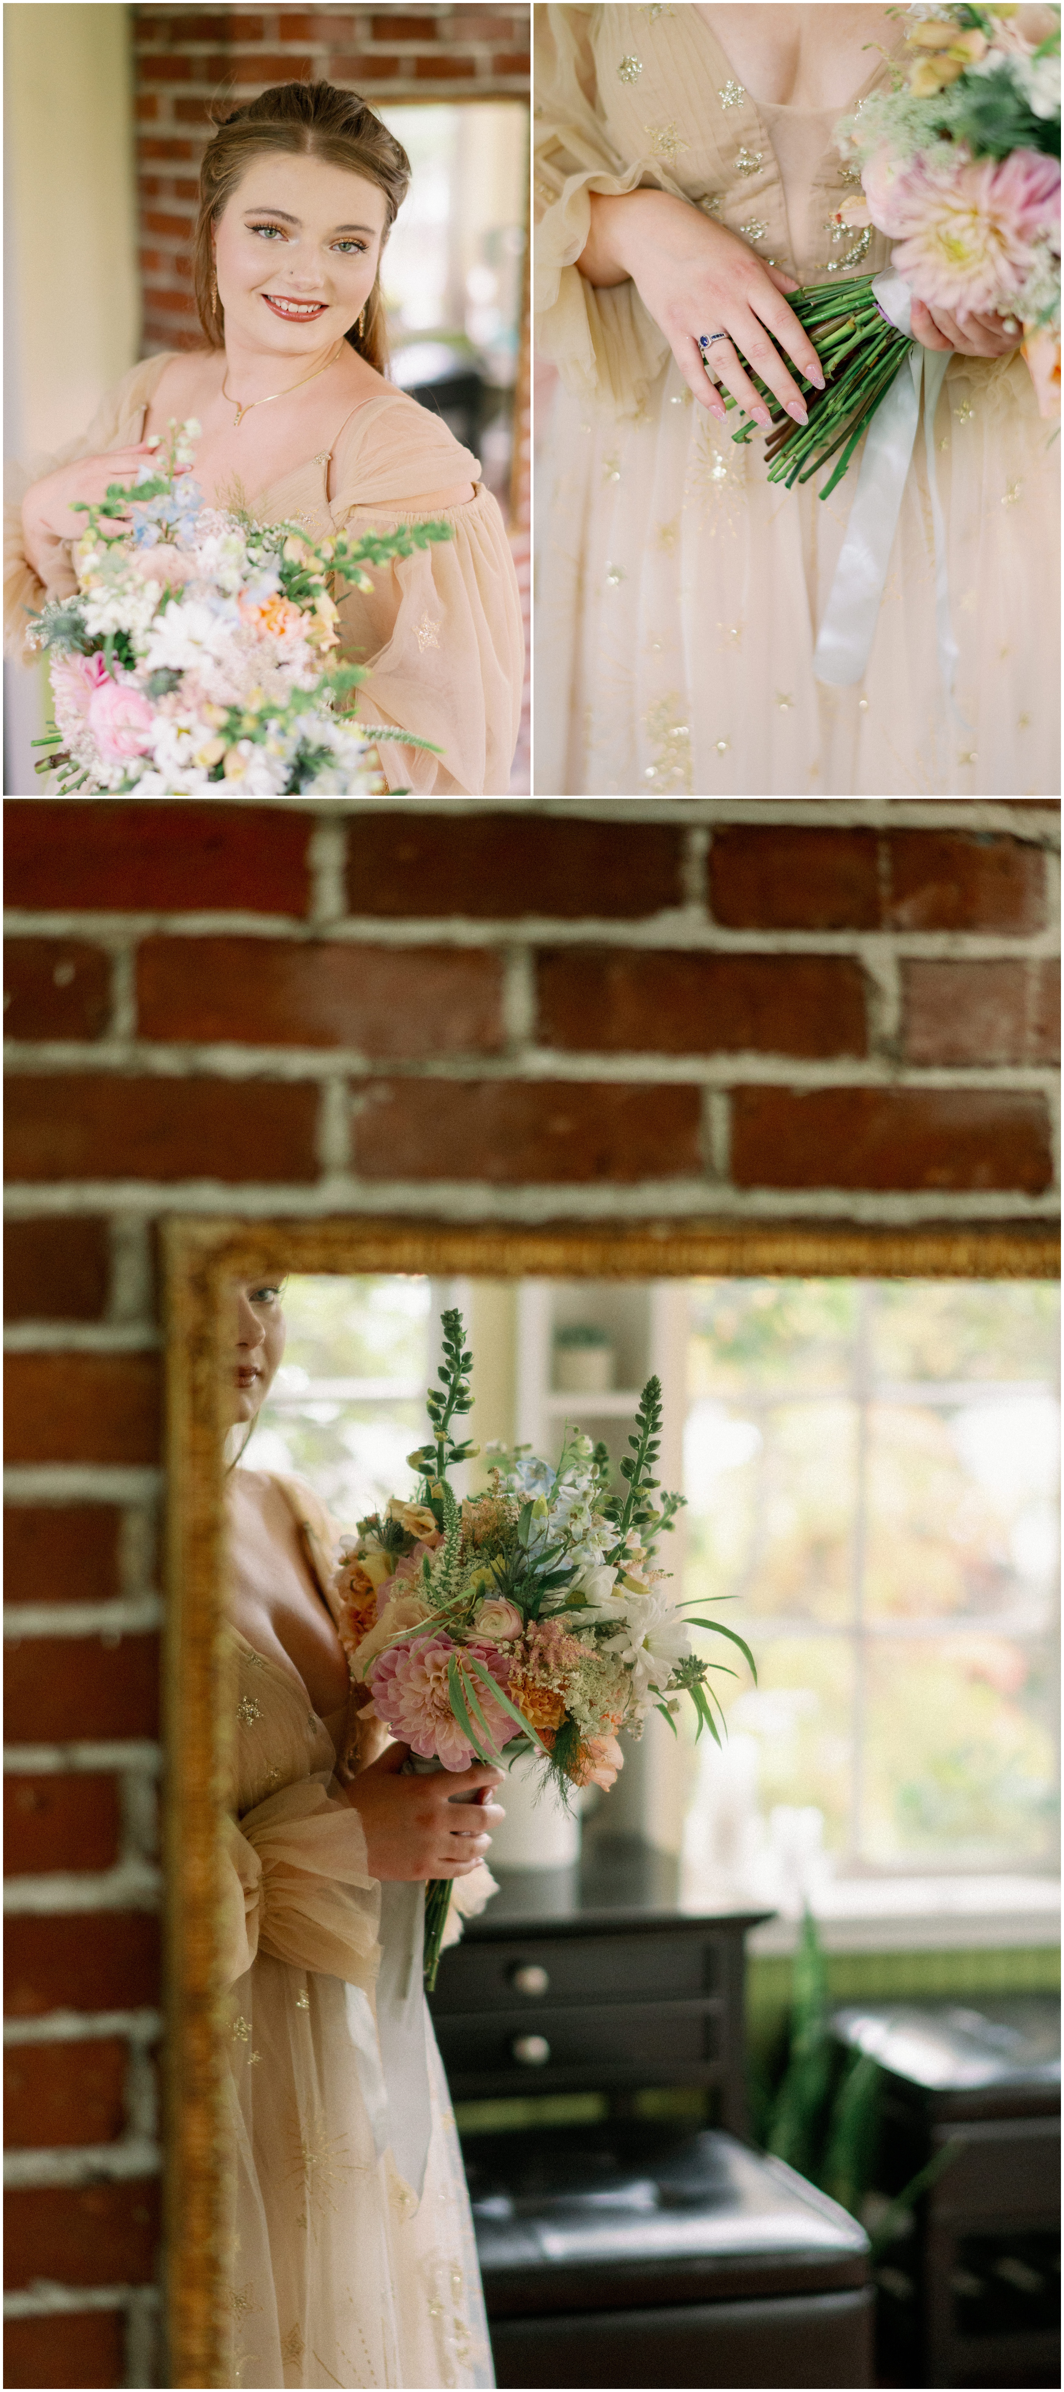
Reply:
[[[791,380],[775,342],[794,359],[818,390],[825,388],[820,359],[782,297],[796,289],[794,275],[763,266],[736,232],[713,225],[686,199],[669,191],[629,191],[622,199],[591,194],[591,239],[576,261],[588,282],[631,282],[643,306],[662,328],[689,390],[710,416],[724,421],[724,402],[705,373],[698,335],[727,332],[708,352],[724,390],[746,407],[756,423],[770,423],[770,411],[744,371],[756,368],[796,423],[808,421],[806,402]],[[772,340],[770,340],[772,335]]]

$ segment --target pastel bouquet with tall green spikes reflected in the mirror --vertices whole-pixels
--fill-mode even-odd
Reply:
[[[428,1395],[430,1442],[409,1454],[421,1488],[359,1521],[340,1560],[340,1636],[371,1713],[411,1746],[414,1765],[507,1768],[538,1753],[562,1801],[574,1787],[614,1784],[622,1732],[643,1734],[650,1710],[677,1732],[681,1696],[720,1744],[710,1672],[691,1653],[701,1627],[753,1655],[734,1629],[689,1617],[665,1593],[658,1540],[681,1495],[660,1495],[660,1383],[650,1378],[610,1488],[605,1445],[567,1428],[557,1466],[526,1447],[493,1454],[490,1488],[464,1502],[447,1469],[478,1452],[454,1442],[471,1411],[461,1313],[442,1313],[440,1390]],[[727,1672],[732,1674],[732,1672]],[[461,1880],[459,1880],[461,1883]],[[435,1985],[452,1885],[426,1897],[426,1983]]]

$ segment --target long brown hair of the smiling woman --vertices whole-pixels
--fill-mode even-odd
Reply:
[[[198,220],[191,244],[191,270],[196,311],[210,349],[225,347],[225,309],[218,299],[213,309],[213,227],[244,179],[253,158],[268,151],[287,151],[289,158],[323,158],[342,165],[349,175],[363,175],[385,194],[385,234],[395,225],[406,199],[411,163],[402,141],[373,115],[356,91],[337,91],[335,84],[273,84],[258,100],[234,108],[225,117],[203,153],[198,170]],[[380,244],[380,246],[383,246]],[[378,373],[387,366],[385,301],[380,297],[380,266],[366,299],[363,330],[347,332],[351,349],[366,356]]]

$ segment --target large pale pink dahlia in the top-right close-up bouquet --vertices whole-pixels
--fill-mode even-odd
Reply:
[[[944,175],[916,160],[892,196],[904,232],[892,266],[916,297],[985,313],[1016,299],[1033,242],[1059,225],[1059,163],[1014,151],[1002,165],[983,158]]]

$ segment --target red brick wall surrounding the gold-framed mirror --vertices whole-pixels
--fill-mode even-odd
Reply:
[[[158,1218],[1045,1220],[1054,842],[1016,801],[7,806],[10,2385],[158,2380]]]

